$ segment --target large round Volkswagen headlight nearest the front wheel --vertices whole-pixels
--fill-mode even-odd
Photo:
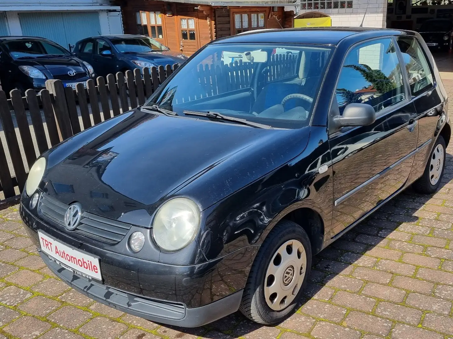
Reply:
[[[186,247],[200,228],[200,210],[188,198],[174,198],[165,202],[153,221],[156,244],[169,252]]]

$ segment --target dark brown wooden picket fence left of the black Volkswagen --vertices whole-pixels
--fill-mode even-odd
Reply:
[[[25,97],[13,89],[11,99],[0,91],[0,122],[7,146],[5,149],[0,140],[0,208],[19,199],[17,193],[24,189],[28,169],[38,154],[93,124],[145,104],[178,66],[145,68],[143,75],[139,69],[109,74],[106,79],[88,80],[87,88],[77,84],[72,89],[63,87],[61,80],[47,80],[46,89],[39,93],[28,89]],[[7,155],[14,173],[9,169]]]

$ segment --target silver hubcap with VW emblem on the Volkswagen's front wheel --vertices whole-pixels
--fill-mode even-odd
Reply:
[[[288,240],[275,252],[267,267],[264,296],[275,311],[289,306],[304,282],[307,254],[298,240]]]

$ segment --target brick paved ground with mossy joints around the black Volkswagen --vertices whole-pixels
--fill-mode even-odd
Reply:
[[[444,84],[453,98],[453,80]],[[447,153],[437,193],[400,194],[314,258],[304,302],[278,326],[237,312],[176,329],[103,306],[50,273],[17,206],[0,211],[0,339],[453,339],[453,146]]]

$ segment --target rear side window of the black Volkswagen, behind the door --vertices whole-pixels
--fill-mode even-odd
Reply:
[[[409,78],[410,94],[418,95],[434,84],[433,74],[422,48],[415,38],[397,37]]]

